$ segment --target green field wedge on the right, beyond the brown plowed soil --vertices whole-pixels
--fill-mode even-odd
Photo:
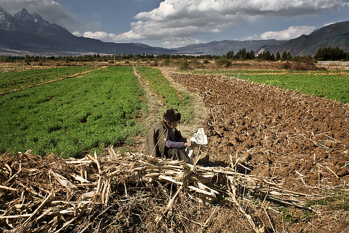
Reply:
[[[195,71],[221,74],[283,89],[297,90],[342,103],[349,103],[349,73],[345,71]]]

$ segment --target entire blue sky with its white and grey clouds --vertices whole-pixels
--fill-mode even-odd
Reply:
[[[164,48],[213,40],[288,40],[349,20],[349,0],[0,0],[77,36]]]

